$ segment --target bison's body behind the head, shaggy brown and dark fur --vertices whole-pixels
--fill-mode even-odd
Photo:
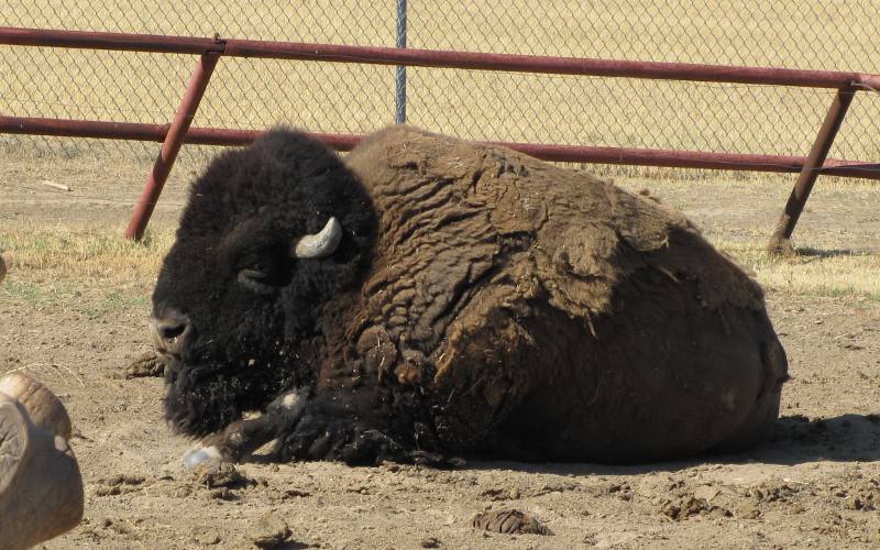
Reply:
[[[772,426],[760,287],[680,213],[586,173],[392,127],[346,158],[381,213],[350,361],[449,452],[635,462]]]

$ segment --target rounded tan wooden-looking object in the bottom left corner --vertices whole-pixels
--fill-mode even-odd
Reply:
[[[0,546],[24,549],[73,529],[82,518],[82,476],[70,419],[43,384],[0,380]]]

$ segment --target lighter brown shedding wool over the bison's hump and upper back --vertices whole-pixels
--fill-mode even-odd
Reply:
[[[381,215],[376,321],[422,351],[481,288],[513,301],[546,293],[579,317],[609,312],[640,270],[696,282],[706,307],[760,309],[760,288],[684,216],[585,172],[395,125],[346,158]]]

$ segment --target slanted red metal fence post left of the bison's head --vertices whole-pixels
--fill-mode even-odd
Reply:
[[[144,235],[144,230],[150,221],[150,216],[158,201],[158,196],[162,194],[162,187],[172,172],[174,161],[177,158],[177,153],[184,144],[189,124],[193,123],[193,118],[196,116],[196,110],[199,108],[201,97],[205,95],[205,89],[208,87],[208,81],[211,79],[211,74],[220,59],[220,53],[209,52],[202,54],[199,58],[196,69],[189,77],[184,97],[180,100],[180,106],[174,116],[174,120],[168,127],[168,132],[165,134],[165,141],[162,142],[156,162],[153,165],[153,172],[146,180],[144,190],[141,193],[141,198],[134,207],[134,212],[131,216],[129,228],[125,230],[127,239],[134,239],[140,241]]]

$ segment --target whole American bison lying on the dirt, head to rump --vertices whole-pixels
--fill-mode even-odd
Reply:
[[[190,464],[736,451],[788,371],[758,284],[680,213],[408,127],[344,162],[283,129],[220,155],[153,308]]]

